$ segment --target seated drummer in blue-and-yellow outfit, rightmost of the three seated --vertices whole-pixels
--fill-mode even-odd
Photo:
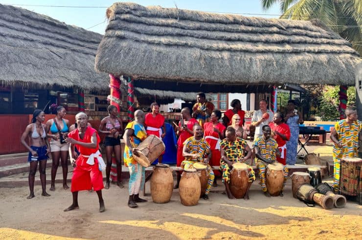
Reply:
[[[266,185],[266,165],[273,163],[276,161],[276,157],[280,156],[280,152],[278,150],[278,144],[276,141],[271,138],[271,128],[268,125],[264,125],[262,127],[263,135],[254,140],[253,148],[255,150],[256,156],[256,166],[259,169],[259,178],[260,185],[264,192],[265,196],[270,197],[268,193],[267,185]],[[280,196],[284,196],[283,189],[285,186],[285,182],[288,178],[288,168],[284,165],[284,181],[282,191],[280,191]]]

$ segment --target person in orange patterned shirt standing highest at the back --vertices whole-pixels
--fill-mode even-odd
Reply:
[[[206,101],[204,92],[199,92],[197,94],[196,101],[194,107],[192,107],[192,117],[196,118],[200,126],[204,128],[204,123],[210,121],[211,112],[215,109],[215,106]]]

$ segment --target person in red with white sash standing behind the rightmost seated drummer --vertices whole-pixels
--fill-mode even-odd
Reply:
[[[276,156],[276,160],[283,165],[287,164],[287,141],[291,138],[289,126],[282,122],[283,114],[277,112],[274,114],[273,121],[269,124],[271,128],[271,137],[278,144],[280,156]]]

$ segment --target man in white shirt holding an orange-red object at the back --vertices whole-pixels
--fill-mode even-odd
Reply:
[[[254,140],[263,135],[262,127],[268,125],[273,120],[273,112],[267,109],[268,101],[262,99],[259,101],[259,110],[254,111],[251,118],[251,125],[255,126]],[[269,118],[264,119],[263,114],[268,113]]]

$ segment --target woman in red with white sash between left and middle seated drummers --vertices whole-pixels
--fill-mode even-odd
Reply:
[[[226,127],[219,123],[221,118],[221,111],[215,109],[212,111],[210,119],[211,122],[204,123],[204,139],[209,143],[211,149],[211,166],[220,166],[220,141],[225,137]],[[214,170],[215,176],[220,176],[221,173],[218,170]],[[214,186],[216,186],[216,178],[214,180]]]

